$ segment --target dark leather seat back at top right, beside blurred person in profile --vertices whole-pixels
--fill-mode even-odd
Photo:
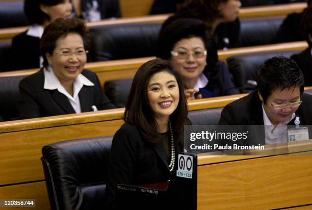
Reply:
[[[271,44],[283,19],[283,17],[242,19],[237,47]]]

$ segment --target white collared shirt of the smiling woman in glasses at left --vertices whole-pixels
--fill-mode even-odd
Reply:
[[[84,85],[94,86],[94,84],[90,80],[88,80],[87,77],[85,77],[82,74],[79,74],[73,83],[73,96],[71,96],[61,85],[58,77],[55,75],[54,71],[50,67],[48,67],[48,69],[43,68],[43,73],[44,73],[43,88],[47,90],[57,89],[60,93],[63,93],[69,99],[69,102],[72,108],[75,110],[75,112],[81,113],[81,106],[78,94]]]

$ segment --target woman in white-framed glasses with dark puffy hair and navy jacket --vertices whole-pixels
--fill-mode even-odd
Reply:
[[[201,20],[178,19],[163,28],[157,56],[180,73],[188,100],[239,93]]]

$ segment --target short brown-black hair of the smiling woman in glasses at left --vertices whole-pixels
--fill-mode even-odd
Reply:
[[[45,27],[40,39],[40,50],[44,67],[48,66],[46,52],[52,55],[58,39],[66,37],[68,33],[79,34],[83,39],[85,49],[89,50],[91,35],[85,21],[79,18],[58,18]]]

